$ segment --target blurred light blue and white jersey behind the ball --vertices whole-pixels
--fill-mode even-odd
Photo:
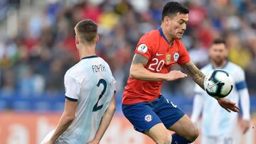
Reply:
[[[245,82],[245,72],[238,65],[233,62],[227,62],[225,67],[221,69],[225,70],[233,78],[234,87],[232,92],[226,98],[238,104],[239,92],[243,89],[247,91],[247,85]],[[213,70],[213,65],[208,64],[203,67],[201,71],[204,74],[208,74]],[[201,87],[196,84],[196,94],[199,94],[203,99],[203,118],[202,118],[202,133],[204,136],[220,136],[231,134],[238,122],[238,113],[228,113],[223,109],[213,97],[209,96]],[[248,106],[249,107],[249,106]],[[196,110],[194,106],[193,113]],[[201,109],[201,108],[198,108]],[[250,111],[248,110],[243,113],[244,118],[250,118]],[[243,111],[244,112],[244,111]],[[195,120],[195,116],[191,116],[192,121]],[[197,118],[196,118],[197,119]]]

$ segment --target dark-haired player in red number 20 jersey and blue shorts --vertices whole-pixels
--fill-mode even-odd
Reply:
[[[171,71],[171,66],[176,63],[204,89],[206,76],[191,62],[180,40],[186,30],[188,13],[188,9],[178,2],[164,6],[161,28],[145,33],[137,44],[122,98],[124,116],[135,130],[159,144],[192,143],[198,137],[198,130],[191,119],[161,95],[164,80],[187,77],[180,71]],[[239,110],[229,99],[217,101],[227,111]],[[169,130],[175,133],[170,135]]]

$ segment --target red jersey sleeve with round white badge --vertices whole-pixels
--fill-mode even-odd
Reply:
[[[149,40],[149,36],[147,36],[146,34],[142,36],[142,38],[139,40],[139,43],[137,44],[137,48],[134,53],[143,55],[148,60],[150,59],[151,55],[153,54],[153,49]]]

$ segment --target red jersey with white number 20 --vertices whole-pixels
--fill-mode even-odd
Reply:
[[[134,53],[146,57],[149,61],[146,70],[156,73],[168,73],[171,66],[178,63],[183,65],[190,61],[188,51],[181,40],[174,40],[174,45],[169,45],[161,28],[149,31],[142,35]],[[135,104],[144,101],[153,101],[161,95],[164,81],[144,81],[129,77],[124,88],[122,104]]]

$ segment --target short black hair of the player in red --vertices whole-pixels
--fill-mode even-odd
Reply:
[[[161,21],[164,21],[165,16],[176,16],[177,13],[187,14],[189,13],[189,10],[186,6],[183,6],[176,1],[170,1],[164,6]]]

